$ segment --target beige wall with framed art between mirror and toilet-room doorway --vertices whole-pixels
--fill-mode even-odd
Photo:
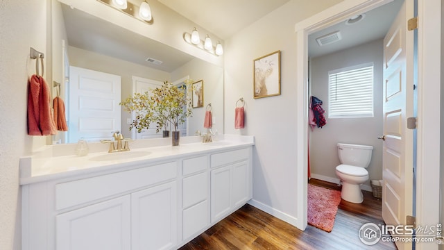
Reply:
[[[340,1],[289,1],[225,40],[225,133],[255,135],[253,199],[289,221],[297,218],[295,24]],[[253,60],[281,51],[280,96],[253,99]],[[244,97],[245,128],[234,129],[234,104]],[[302,199],[302,197],[300,197]]]

